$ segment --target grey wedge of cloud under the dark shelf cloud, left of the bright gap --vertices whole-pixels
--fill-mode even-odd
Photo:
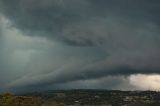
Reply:
[[[52,85],[54,86],[54,85]],[[120,89],[134,90],[129,80],[122,76],[108,76],[91,80],[79,80],[56,85],[60,89]]]

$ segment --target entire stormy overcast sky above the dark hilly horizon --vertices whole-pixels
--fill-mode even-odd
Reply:
[[[0,0],[0,91],[160,90],[159,11],[159,0]]]

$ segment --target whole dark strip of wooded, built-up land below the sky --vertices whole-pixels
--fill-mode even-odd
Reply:
[[[23,95],[4,93],[0,106],[160,106],[160,92],[58,90]]]

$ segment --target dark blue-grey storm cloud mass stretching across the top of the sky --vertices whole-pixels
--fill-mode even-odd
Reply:
[[[146,22],[159,24],[160,19],[158,14],[160,3],[150,0],[1,0],[1,2],[2,12],[16,27],[32,33],[31,35],[34,35],[34,32],[77,45],[96,45],[95,42],[100,44],[105,42],[101,39],[107,38],[104,30],[110,26],[113,28],[122,26],[127,28],[126,31],[122,31],[123,33],[131,30],[131,34],[135,33],[137,27],[144,27]],[[94,28],[99,27],[97,24],[102,29],[96,31]],[[96,33],[100,31],[101,33]],[[114,29],[107,32],[115,34]]]

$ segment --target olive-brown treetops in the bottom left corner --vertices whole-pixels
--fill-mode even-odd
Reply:
[[[0,106],[65,106],[63,103],[46,102],[40,97],[15,96],[11,93],[0,95]]]

